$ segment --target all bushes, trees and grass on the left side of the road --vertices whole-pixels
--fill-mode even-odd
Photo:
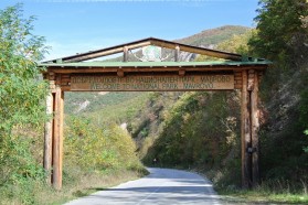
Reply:
[[[22,13],[21,4],[0,11],[0,204],[62,204],[146,174],[127,131],[66,114],[63,188],[45,182],[43,126],[51,116],[36,63],[47,47],[32,33],[35,19]]]

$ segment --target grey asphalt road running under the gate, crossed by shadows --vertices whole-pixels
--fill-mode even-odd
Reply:
[[[209,180],[191,172],[148,169],[150,174],[115,187],[78,198],[66,205],[219,205],[219,196]]]

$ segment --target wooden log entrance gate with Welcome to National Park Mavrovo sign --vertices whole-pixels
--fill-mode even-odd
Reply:
[[[128,61],[129,51],[145,46],[173,50],[173,62],[156,62],[159,57],[152,56],[148,62]],[[181,52],[223,61],[180,62]],[[84,62],[116,53],[123,53],[123,62]],[[51,173],[47,180],[55,188],[62,187],[64,91],[85,90],[241,90],[242,185],[248,188],[258,184],[258,85],[268,67],[267,61],[149,37],[44,62],[40,66],[46,68],[44,78],[50,82],[46,112],[54,115],[45,123],[44,169]]]

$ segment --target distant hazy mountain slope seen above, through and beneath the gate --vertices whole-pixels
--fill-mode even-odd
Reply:
[[[216,29],[204,30],[194,35],[174,40],[179,43],[184,43],[189,45],[202,46],[202,47],[215,47],[217,43],[229,40],[233,35],[243,34],[247,32],[249,28],[238,26],[238,25],[225,25]],[[162,51],[162,55],[168,55],[170,50]],[[140,56],[140,52],[136,53]],[[197,55],[181,52],[180,60],[181,61],[193,61]],[[108,61],[121,61],[123,57],[110,58]],[[134,55],[129,54],[130,61],[138,61]],[[167,61],[174,61],[173,53],[171,53],[170,57]],[[138,98],[144,95],[142,93],[109,93],[105,96],[99,95],[98,93],[68,93],[65,97],[66,112],[95,112],[100,109],[108,109],[109,104],[118,104],[118,101],[130,100],[131,98]]]

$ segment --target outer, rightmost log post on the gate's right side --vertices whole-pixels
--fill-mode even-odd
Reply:
[[[258,111],[258,73],[254,74],[254,88],[251,96],[252,104],[252,186],[255,187],[259,184],[259,170],[258,170],[258,129],[259,129],[259,111]]]

